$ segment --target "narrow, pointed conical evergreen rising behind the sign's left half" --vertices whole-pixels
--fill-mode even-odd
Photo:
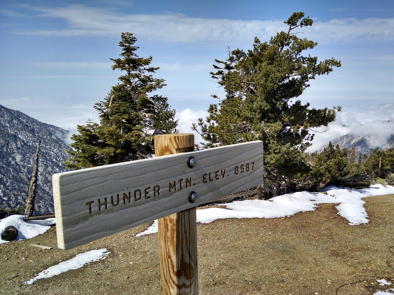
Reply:
[[[112,69],[124,74],[105,99],[96,103],[99,124],[89,120],[86,125],[78,125],[79,134],[71,137],[74,150],[65,162],[68,169],[149,157],[154,153],[154,135],[177,132],[175,110],[170,109],[167,98],[148,96],[165,84],[163,79],[153,77],[159,68],[150,66],[152,57],[137,56],[136,41],[132,33],[121,34],[121,58],[111,60]]]

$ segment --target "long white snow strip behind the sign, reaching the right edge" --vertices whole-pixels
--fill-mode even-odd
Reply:
[[[296,192],[274,197],[269,200],[244,200],[226,204],[226,208],[206,208],[197,210],[197,222],[210,223],[225,218],[278,218],[298,212],[313,211],[319,204],[335,204],[338,214],[349,221],[349,225],[368,223],[365,201],[362,198],[394,194],[394,186],[381,184],[363,189],[343,189],[335,186],[324,188],[327,193]],[[146,231],[136,235],[144,236],[157,233],[157,222]]]

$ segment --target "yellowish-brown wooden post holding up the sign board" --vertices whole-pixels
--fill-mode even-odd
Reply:
[[[156,156],[194,150],[193,134],[155,136]],[[159,218],[162,295],[198,295],[196,208]]]

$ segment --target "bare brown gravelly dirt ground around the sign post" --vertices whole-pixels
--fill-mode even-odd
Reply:
[[[394,288],[394,195],[364,199],[370,222],[350,226],[334,204],[286,218],[224,219],[197,224],[200,295],[372,295]],[[148,225],[83,246],[57,249],[56,228],[0,245],[0,294],[158,295],[158,235]],[[30,244],[51,246],[45,250]],[[111,254],[25,285],[78,253]],[[379,286],[386,278],[391,286]]]

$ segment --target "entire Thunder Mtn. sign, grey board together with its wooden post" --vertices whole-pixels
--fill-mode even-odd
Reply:
[[[154,158],[53,175],[58,247],[159,219],[162,294],[197,295],[196,207],[261,184],[263,143],[193,150],[193,134],[159,135]]]

